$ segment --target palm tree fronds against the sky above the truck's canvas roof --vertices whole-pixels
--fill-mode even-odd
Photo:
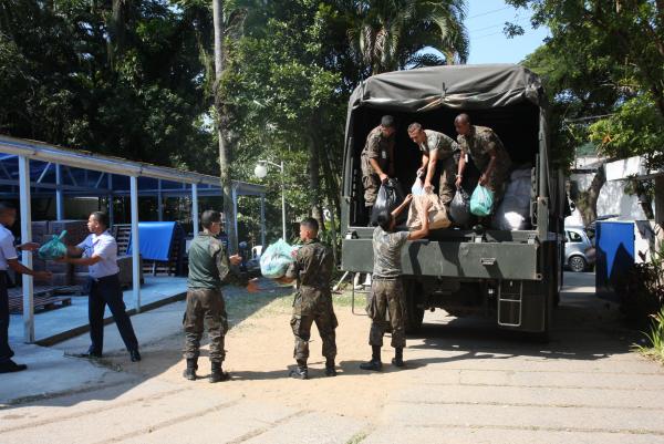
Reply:
[[[415,65],[465,63],[465,0],[340,0],[349,38],[372,74]],[[422,54],[430,47],[444,58]]]

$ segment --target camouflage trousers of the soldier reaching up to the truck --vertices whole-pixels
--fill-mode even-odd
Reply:
[[[406,302],[401,278],[373,278],[366,300],[366,314],[371,318],[369,344],[383,347],[383,334],[392,326],[392,347],[406,347],[405,314]],[[385,316],[390,312],[390,321]]]

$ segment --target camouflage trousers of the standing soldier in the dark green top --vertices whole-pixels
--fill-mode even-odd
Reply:
[[[224,296],[220,290],[189,288],[184,319],[186,359],[198,359],[204,327],[210,340],[210,361],[222,362],[226,358],[224,337],[228,331]]]

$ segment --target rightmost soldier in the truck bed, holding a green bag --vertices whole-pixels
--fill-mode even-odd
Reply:
[[[454,126],[458,133],[457,141],[461,147],[456,179],[457,188],[461,184],[464,168],[466,167],[465,155],[468,154],[481,172],[479,185],[494,192],[494,206],[496,207],[496,204],[502,198],[505,185],[509,179],[511,169],[511,159],[507,149],[505,149],[502,142],[494,133],[494,130],[471,125],[468,114],[457,115],[454,120]]]

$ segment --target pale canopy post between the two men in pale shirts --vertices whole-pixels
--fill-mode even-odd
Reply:
[[[32,241],[32,208],[30,202],[30,159],[19,156],[19,194],[21,203],[21,242]],[[21,262],[32,268],[32,252],[23,251]],[[23,275],[23,341],[34,342],[34,281]]]

